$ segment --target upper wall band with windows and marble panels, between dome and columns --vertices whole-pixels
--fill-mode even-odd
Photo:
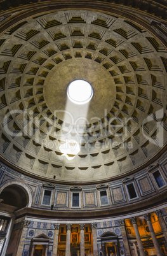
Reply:
[[[60,212],[59,216],[65,217],[66,213],[63,213],[63,210],[68,210],[71,216],[76,213],[78,216],[83,216],[84,213],[85,217],[105,216],[110,213],[116,215],[163,204],[166,198],[166,166],[167,155],[164,153],[159,160],[152,162],[147,168],[123,178],[104,183],[99,181],[65,184],[56,180],[54,182],[37,180],[1,163],[1,193],[8,188],[6,183],[19,185],[21,180],[20,185],[25,184],[29,196],[32,197],[30,207],[36,208],[41,214],[46,213],[42,210],[49,210],[51,215],[57,211]],[[22,210],[19,214],[21,212]]]

